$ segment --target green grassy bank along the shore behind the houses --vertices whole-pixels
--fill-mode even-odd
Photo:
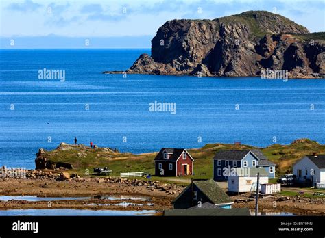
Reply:
[[[194,178],[211,178],[213,176],[213,156],[221,149],[247,150],[256,148],[248,145],[234,144],[206,144],[202,148],[189,149],[194,162]],[[300,139],[289,145],[272,144],[261,148],[263,153],[277,164],[276,174],[289,172],[293,163],[304,155],[311,155],[313,152],[325,153],[325,145],[318,144],[308,139]],[[154,157],[156,153],[145,153],[134,155],[132,153],[114,152],[108,148],[97,148],[88,146],[74,146],[65,144],[55,150],[48,151],[46,157],[54,162],[71,163],[73,172],[83,176],[88,169],[92,174],[93,168],[108,166],[113,170],[112,176],[119,176],[120,172],[149,172],[154,174]]]

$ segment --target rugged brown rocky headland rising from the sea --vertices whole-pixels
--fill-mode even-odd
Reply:
[[[289,77],[324,75],[324,33],[309,34],[270,12],[214,20],[167,21],[128,73],[245,77],[287,70]]]

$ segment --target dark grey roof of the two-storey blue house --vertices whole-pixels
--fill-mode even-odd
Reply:
[[[229,159],[241,161],[248,153],[252,153],[256,159],[258,159],[258,165],[260,166],[274,166],[275,163],[267,160],[267,157],[263,154],[261,150],[219,150],[213,159]]]

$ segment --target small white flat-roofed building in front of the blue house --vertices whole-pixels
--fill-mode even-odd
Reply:
[[[235,193],[245,193],[256,191],[257,173],[260,174],[259,183],[269,183],[269,174],[264,168],[239,168],[235,174],[228,176],[228,191]]]

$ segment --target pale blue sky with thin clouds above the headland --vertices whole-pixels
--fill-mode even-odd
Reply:
[[[158,27],[168,20],[213,19],[248,10],[267,10],[311,32],[325,31],[324,0],[0,0],[0,4],[1,48],[149,48]]]

